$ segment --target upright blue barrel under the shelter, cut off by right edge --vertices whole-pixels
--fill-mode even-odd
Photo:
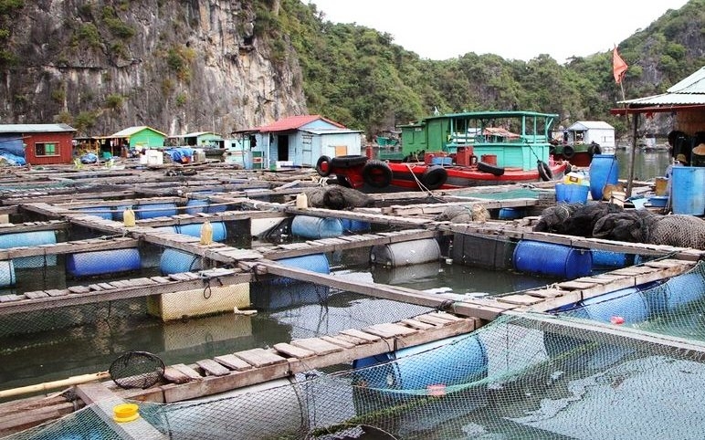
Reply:
[[[670,191],[673,214],[705,215],[705,167],[674,166]]]

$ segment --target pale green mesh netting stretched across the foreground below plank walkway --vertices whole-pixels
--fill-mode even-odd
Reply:
[[[142,424],[128,438],[700,439],[703,316],[700,262],[662,282],[504,315],[411,350],[197,401],[139,403]],[[99,410],[8,438],[121,438]]]

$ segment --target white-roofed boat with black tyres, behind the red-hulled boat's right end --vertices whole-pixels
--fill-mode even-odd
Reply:
[[[603,120],[578,120],[568,128],[553,131],[550,142],[554,160],[588,167],[595,154],[615,148],[615,128]]]

